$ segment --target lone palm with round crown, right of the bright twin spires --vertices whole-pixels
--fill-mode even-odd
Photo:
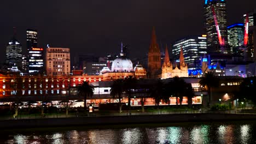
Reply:
[[[218,87],[219,85],[219,79],[214,75],[213,71],[210,71],[208,73],[205,73],[202,77],[200,77],[199,85],[203,88],[207,88],[208,91],[208,104],[207,106],[210,106],[212,94],[211,90],[213,87]]]

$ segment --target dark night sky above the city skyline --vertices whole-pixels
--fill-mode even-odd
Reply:
[[[158,42],[170,44],[187,35],[203,34],[204,0],[75,0],[1,1],[0,60],[16,27],[26,51],[26,29],[38,31],[38,47],[69,47],[71,61],[78,55],[106,56],[129,45],[131,58],[146,55],[152,27]],[[229,0],[228,24],[256,8],[255,0]]]

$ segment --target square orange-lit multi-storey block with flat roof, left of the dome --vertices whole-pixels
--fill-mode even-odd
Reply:
[[[45,59],[47,75],[70,75],[69,48],[48,47]]]

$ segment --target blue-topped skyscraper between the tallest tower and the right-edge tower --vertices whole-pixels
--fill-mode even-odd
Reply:
[[[230,46],[230,53],[235,55],[242,55],[241,46],[243,45],[244,35],[243,23],[234,23],[228,26],[228,44]]]

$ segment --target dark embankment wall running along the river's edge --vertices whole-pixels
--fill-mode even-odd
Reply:
[[[256,115],[228,113],[187,113],[172,115],[131,115],[71,118],[9,119],[0,121],[0,128],[65,127],[101,124],[172,123],[244,121],[256,119]]]

